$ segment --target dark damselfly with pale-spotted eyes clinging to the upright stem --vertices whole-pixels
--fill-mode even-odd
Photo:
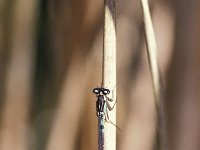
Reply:
[[[104,149],[104,121],[113,124],[116,126],[112,121],[110,121],[108,116],[108,110],[111,111],[114,107],[110,106],[109,102],[112,102],[113,100],[109,98],[107,95],[110,93],[109,89],[106,88],[94,88],[93,93],[97,97],[96,101],[96,114],[98,117],[98,145],[99,150]]]

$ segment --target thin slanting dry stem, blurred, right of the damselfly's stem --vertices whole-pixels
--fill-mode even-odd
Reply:
[[[161,116],[164,117],[164,110],[161,104],[164,90],[163,90],[163,84],[161,83],[159,66],[157,62],[157,45],[156,45],[155,34],[154,34],[153,25],[152,25],[152,21],[150,17],[150,12],[149,12],[148,0],[141,0],[141,6],[142,6],[142,11],[143,11],[143,17],[144,17],[148,61],[150,65],[153,90],[154,90],[154,98],[155,98],[155,104],[156,104],[156,115],[157,115],[156,125],[157,125],[158,149],[163,150],[164,147],[166,147],[166,144],[165,144],[166,141],[164,142],[164,139],[163,139],[164,138],[163,132],[165,131],[165,129],[163,128],[164,126],[161,125],[161,123],[163,124],[163,122],[161,122],[161,119],[163,119],[161,118]]]

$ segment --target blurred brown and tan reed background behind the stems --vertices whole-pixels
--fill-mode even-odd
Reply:
[[[200,1],[152,0],[167,147],[200,149]],[[117,0],[118,150],[155,150],[139,0]],[[0,150],[97,149],[103,0],[0,1]]]

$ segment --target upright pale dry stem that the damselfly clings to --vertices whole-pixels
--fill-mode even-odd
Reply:
[[[110,89],[116,100],[116,25],[115,0],[104,0],[103,87]],[[114,103],[113,103],[114,104]],[[116,124],[116,107],[108,111],[109,119]],[[105,123],[104,149],[116,150],[116,127]]]

